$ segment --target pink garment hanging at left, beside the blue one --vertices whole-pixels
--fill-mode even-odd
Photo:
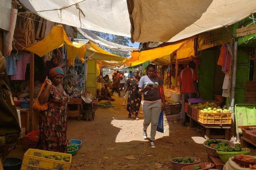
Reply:
[[[11,76],[11,80],[25,80],[25,74],[27,69],[27,64],[30,63],[30,54],[25,52],[20,52],[22,55],[21,60],[16,61],[17,74]]]

